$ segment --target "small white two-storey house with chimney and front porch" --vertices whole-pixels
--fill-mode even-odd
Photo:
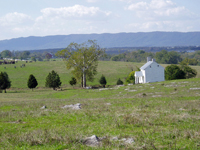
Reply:
[[[147,58],[140,71],[135,72],[135,84],[165,81],[165,69],[155,59]]]

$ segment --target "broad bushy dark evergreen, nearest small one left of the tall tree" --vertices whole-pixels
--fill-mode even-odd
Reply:
[[[59,75],[54,70],[52,70],[46,77],[45,86],[55,90],[55,88],[60,87],[61,84],[62,82],[60,81]]]

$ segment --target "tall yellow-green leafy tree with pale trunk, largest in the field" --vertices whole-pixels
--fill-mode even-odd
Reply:
[[[82,87],[86,87],[86,79],[92,81],[97,73],[97,65],[99,57],[104,50],[96,43],[96,41],[88,40],[88,42],[77,44],[71,43],[69,46],[56,53],[66,62],[67,69],[72,70],[72,74],[82,81]]]

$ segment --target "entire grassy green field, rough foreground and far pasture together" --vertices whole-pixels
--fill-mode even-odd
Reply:
[[[8,93],[0,93],[0,149],[200,149],[200,78],[114,86],[142,64],[100,62],[88,85],[98,85],[104,74],[111,86],[73,89],[62,61],[20,63],[0,66],[12,81]],[[62,91],[44,88],[51,70],[60,75]],[[26,86],[30,74],[39,82],[34,91]],[[76,103],[82,109],[61,108]],[[100,146],[85,145],[92,135],[103,137]]]

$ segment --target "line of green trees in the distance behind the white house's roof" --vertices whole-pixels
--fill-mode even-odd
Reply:
[[[125,52],[111,57],[111,61],[146,62],[147,57],[156,59],[161,64],[179,64],[186,62],[188,65],[200,65],[200,51],[194,53],[181,53],[176,51],[161,50],[160,52],[145,52],[137,50]]]

